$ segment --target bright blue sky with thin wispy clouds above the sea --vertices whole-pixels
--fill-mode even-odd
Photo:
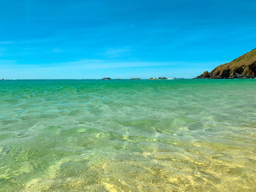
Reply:
[[[0,0],[0,77],[195,77],[256,48],[256,1]]]

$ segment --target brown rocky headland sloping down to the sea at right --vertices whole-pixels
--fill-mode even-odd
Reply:
[[[217,66],[211,72],[203,72],[196,78],[234,79],[256,77],[256,49],[241,55],[227,64]]]

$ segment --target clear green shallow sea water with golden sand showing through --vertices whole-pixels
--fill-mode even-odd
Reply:
[[[256,80],[0,82],[0,191],[255,191]]]

